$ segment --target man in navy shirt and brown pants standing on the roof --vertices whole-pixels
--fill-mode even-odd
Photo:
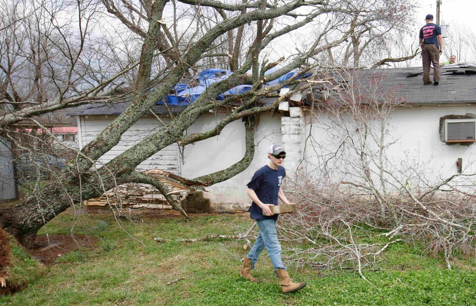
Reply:
[[[421,60],[423,62],[423,84],[435,84],[440,82],[440,54],[443,53],[443,37],[441,28],[433,23],[433,15],[425,17],[426,25],[422,26],[419,34],[421,46]],[[430,65],[433,63],[433,82],[430,81]]]

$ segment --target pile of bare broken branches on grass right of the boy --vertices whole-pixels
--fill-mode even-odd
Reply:
[[[474,197],[432,191],[388,196],[377,201],[340,188],[319,189],[312,180],[289,184],[296,214],[283,216],[283,257],[313,268],[356,269],[374,266],[393,243],[422,245],[422,253],[442,255],[451,269],[455,253],[475,255]],[[349,191],[349,190],[348,190]],[[385,210],[381,202],[386,203]],[[365,238],[363,240],[362,238]],[[382,239],[385,238],[385,239]],[[363,241],[374,241],[367,243]]]

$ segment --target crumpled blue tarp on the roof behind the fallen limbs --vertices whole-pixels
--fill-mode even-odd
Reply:
[[[277,71],[279,68],[274,67],[267,72],[265,72],[265,75],[268,75],[270,73],[273,73]],[[251,71],[249,71],[251,73]],[[294,70],[292,72],[289,72],[283,76],[280,76],[279,78],[272,80],[268,84],[273,85],[273,84],[281,84],[285,80],[293,77],[296,75],[297,70]],[[175,91],[177,92],[177,95],[168,95],[165,97],[165,100],[169,105],[188,105],[195,101],[200,94],[202,94],[208,86],[215,82],[222,81],[228,77],[230,77],[233,73],[231,71],[225,70],[225,69],[207,69],[202,72],[199,72],[197,76],[195,77],[199,85],[195,87],[189,87],[188,84],[185,83],[178,83],[177,85],[174,86]],[[304,77],[311,76],[311,74],[305,74]],[[298,76],[297,78],[301,78],[301,76]],[[217,100],[224,100],[227,96],[230,95],[235,95],[235,94],[240,94],[247,92],[251,89],[251,85],[238,85],[236,87],[233,87],[223,93],[221,93],[218,97]],[[163,101],[157,102],[157,104],[164,104]]]

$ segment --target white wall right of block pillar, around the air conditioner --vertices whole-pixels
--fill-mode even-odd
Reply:
[[[448,145],[440,140],[440,118],[467,113],[476,114],[476,107],[414,106],[399,107],[393,110],[386,130],[387,143],[395,142],[386,150],[389,168],[414,167],[424,174],[428,183],[433,184],[457,174],[456,161],[458,158],[462,158],[463,173],[475,173],[475,143],[468,146]],[[353,171],[351,165],[338,165],[339,160],[336,158],[323,157],[325,153],[338,152],[340,145],[339,140],[331,136],[335,134],[326,131],[325,112],[316,116],[308,115],[306,119],[308,124],[304,133],[310,137],[307,138],[305,148],[306,162],[301,164],[301,170],[307,173],[314,171],[316,176],[322,175],[325,160],[328,162],[328,169],[330,169],[328,171],[330,183],[339,183],[340,180],[349,179]],[[311,121],[313,122],[312,129],[309,123]],[[331,130],[331,132],[335,131]]]

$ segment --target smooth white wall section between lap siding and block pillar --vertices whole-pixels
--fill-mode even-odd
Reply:
[[[211,130],[220,118],[221,116],[216,114],[202,115],[187,133]],[[213,205],[223,205],[228,209],[242,209],[250,205],[246,184],[257,169],[268,163],[267,153],[271,144],[280,142],[281,117],[261,114],[255,131],[257,146],[250,166],[235,177],[206,188],[206,196],[211,199]],[[187,178],[195,178],[226,169],[243,158],[245,151],[244,123],[237,120],[227,125],[220,135],[185,146],[181,174]]]

